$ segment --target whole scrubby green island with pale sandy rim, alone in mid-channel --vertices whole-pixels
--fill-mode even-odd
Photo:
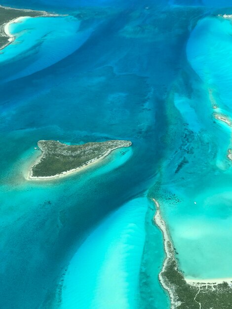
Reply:
[[[50,179],[75,172],[84,166],[103,159],[113,150],[129,147],[130,141],[112,140],[82,145],[67,145],[59,141],[38,142],[42,154],[30,167],[29,179]]]

